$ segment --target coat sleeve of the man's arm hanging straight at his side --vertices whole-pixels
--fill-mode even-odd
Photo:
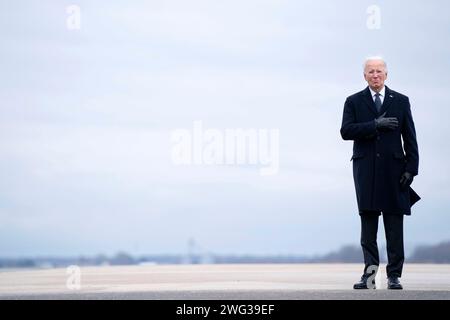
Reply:
[[[402,137],[406,154],[406,171],[416,176],[419,173],[419,148],[417,146],[416,129],[409,99],[406,103],[406,117],[402,126]]]

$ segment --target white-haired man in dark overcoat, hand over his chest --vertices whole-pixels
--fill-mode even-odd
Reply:
[[[354,141],[351,160],[365,264],[354,289],[375,288],[381,214],[387,244],[388,288],[402,289],[399,278],[404,263],[403,217],[411,214],[411,206],[420,199],[410,187],[419,168],[416,131],[408,97],[384,85],[387,66],[382,58],[366,60],[364,78],[368,87],[347,98],[341,127],[342,138]]]

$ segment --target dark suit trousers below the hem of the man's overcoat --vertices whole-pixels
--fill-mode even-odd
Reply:
[[[378,217],[380,212],[363,211],[361,217],[361,247],[364,254],[364,272],[369,266],[379,266],[377,233]],[[388,277],[402,276],[403,262],[405,261],[403,247],[403,214],[389,214],[383,212],[384,230],[386,233],[388,264],[386,273]]]

